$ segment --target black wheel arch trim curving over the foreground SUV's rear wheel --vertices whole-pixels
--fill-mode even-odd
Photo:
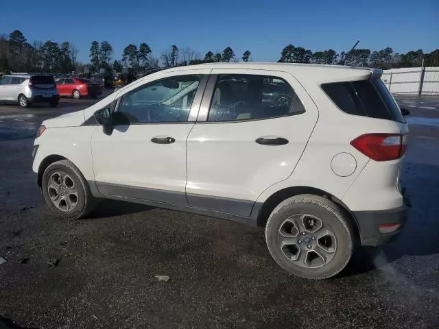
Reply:
[[[268,197],[268,199],[265,200],[265,202],[261,206],[261,209],[259,210],[259,214],[257,216],[257,226],[264,228],[268,221],[268,217],[270,217],[270,214],[278,204],[283,202],[283,200],[288,199],[289,197],[294,197],[295,195],[300,195],[300,194],[319,195],[321,197],[330,199],[332,202],[340,206],[340,208],[344,210],[346,217],[351,222],[351,225],[354,230],[354,236],[356,238],[359,238],[359,226],[357,220],[355,219],[355,216],[353,215],[351,210],[349,210],[348,206],[346,206],[346,204],[344,204],[342,200],[338,199],[331,193],[327,193],[326,191],[320,190],[320,188],[315,188],[310,186],[287,187],[279,191],[276,191],[276,193],[270,195],[270,197]]]

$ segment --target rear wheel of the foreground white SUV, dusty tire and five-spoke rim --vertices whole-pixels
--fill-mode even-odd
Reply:
[[[308,229],[316,231],[310,233]],[[345,212],[318,195],[296,195],[278,204],[267,221],[265,240],[270,254],[283,269],[295,276],[316,280],[331,278],[342,271],[354,249],[353,229]]]

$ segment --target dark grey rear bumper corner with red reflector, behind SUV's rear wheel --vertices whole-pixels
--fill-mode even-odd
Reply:
[[[377,246],[389,243],[401,233],[408,208],[404,205],[387,210],[355,211],[353,215],[359,226],[361,245]]]

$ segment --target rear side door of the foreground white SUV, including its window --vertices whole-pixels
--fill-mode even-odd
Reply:
[[[213,70],[187,140],[189,205],[248,217],[266,188],[292,174],[317,119],[289,73]]]

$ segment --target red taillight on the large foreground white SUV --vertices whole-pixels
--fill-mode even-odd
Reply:
[[[401,158],[407,148],[407,136],[402,134],[365,134],[355,138],[351,145],[375,161]]]

